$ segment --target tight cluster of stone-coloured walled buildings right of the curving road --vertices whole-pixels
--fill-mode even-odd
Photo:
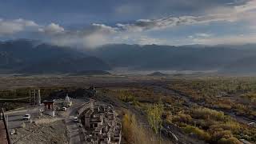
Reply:
[[[79,118],[86,130],[86,142],[119,144],[122,138],[122,125],[113,107],[95,102],[89,102],[84,107],[86,110],[80,114]]]

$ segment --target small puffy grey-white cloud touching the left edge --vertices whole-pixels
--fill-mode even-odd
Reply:
[[[0,19],[0,35],[16,34],[18,32],[34,29],[36,27],[38,27],[37,23],[24,20],[22,18],[14,20]]]

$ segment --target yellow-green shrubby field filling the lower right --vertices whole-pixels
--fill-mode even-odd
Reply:
[[[256,127],[248,125],[256,118],[255,82],[255,78],[175,78],[105,92],[147,115],[162,106],[162,126],[152,126],[154,131],[175,125],[208,143],[256,142]]]

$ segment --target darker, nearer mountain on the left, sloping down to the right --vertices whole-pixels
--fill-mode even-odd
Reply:
[[[67,73],[110,70],[100,58],[69,47],[17,40],[0,43],[0,70],[13,73]],[[0,71],[1,72],[1,71]]]

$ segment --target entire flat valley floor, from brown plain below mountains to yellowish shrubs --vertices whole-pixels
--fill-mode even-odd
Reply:
[[[91,85],[98,91],[98,101],[113,105],[123,116],[134,115],[140,126],[138,130],[147,131],[150,138],[158,138],[159,134],[152,132],[149,110],[162,106],[162,143],[256,142],[256,78],[142,75],[5,77],[0,78],[0,98],[6,101],[14,94],[8,90],[18,93],[28,87],[40,87],[45,95],[49,94],[48,91]],[[129,135],[135,133],[131,130]],[[124,134],[122,142],[129,143],[129,135]]]

